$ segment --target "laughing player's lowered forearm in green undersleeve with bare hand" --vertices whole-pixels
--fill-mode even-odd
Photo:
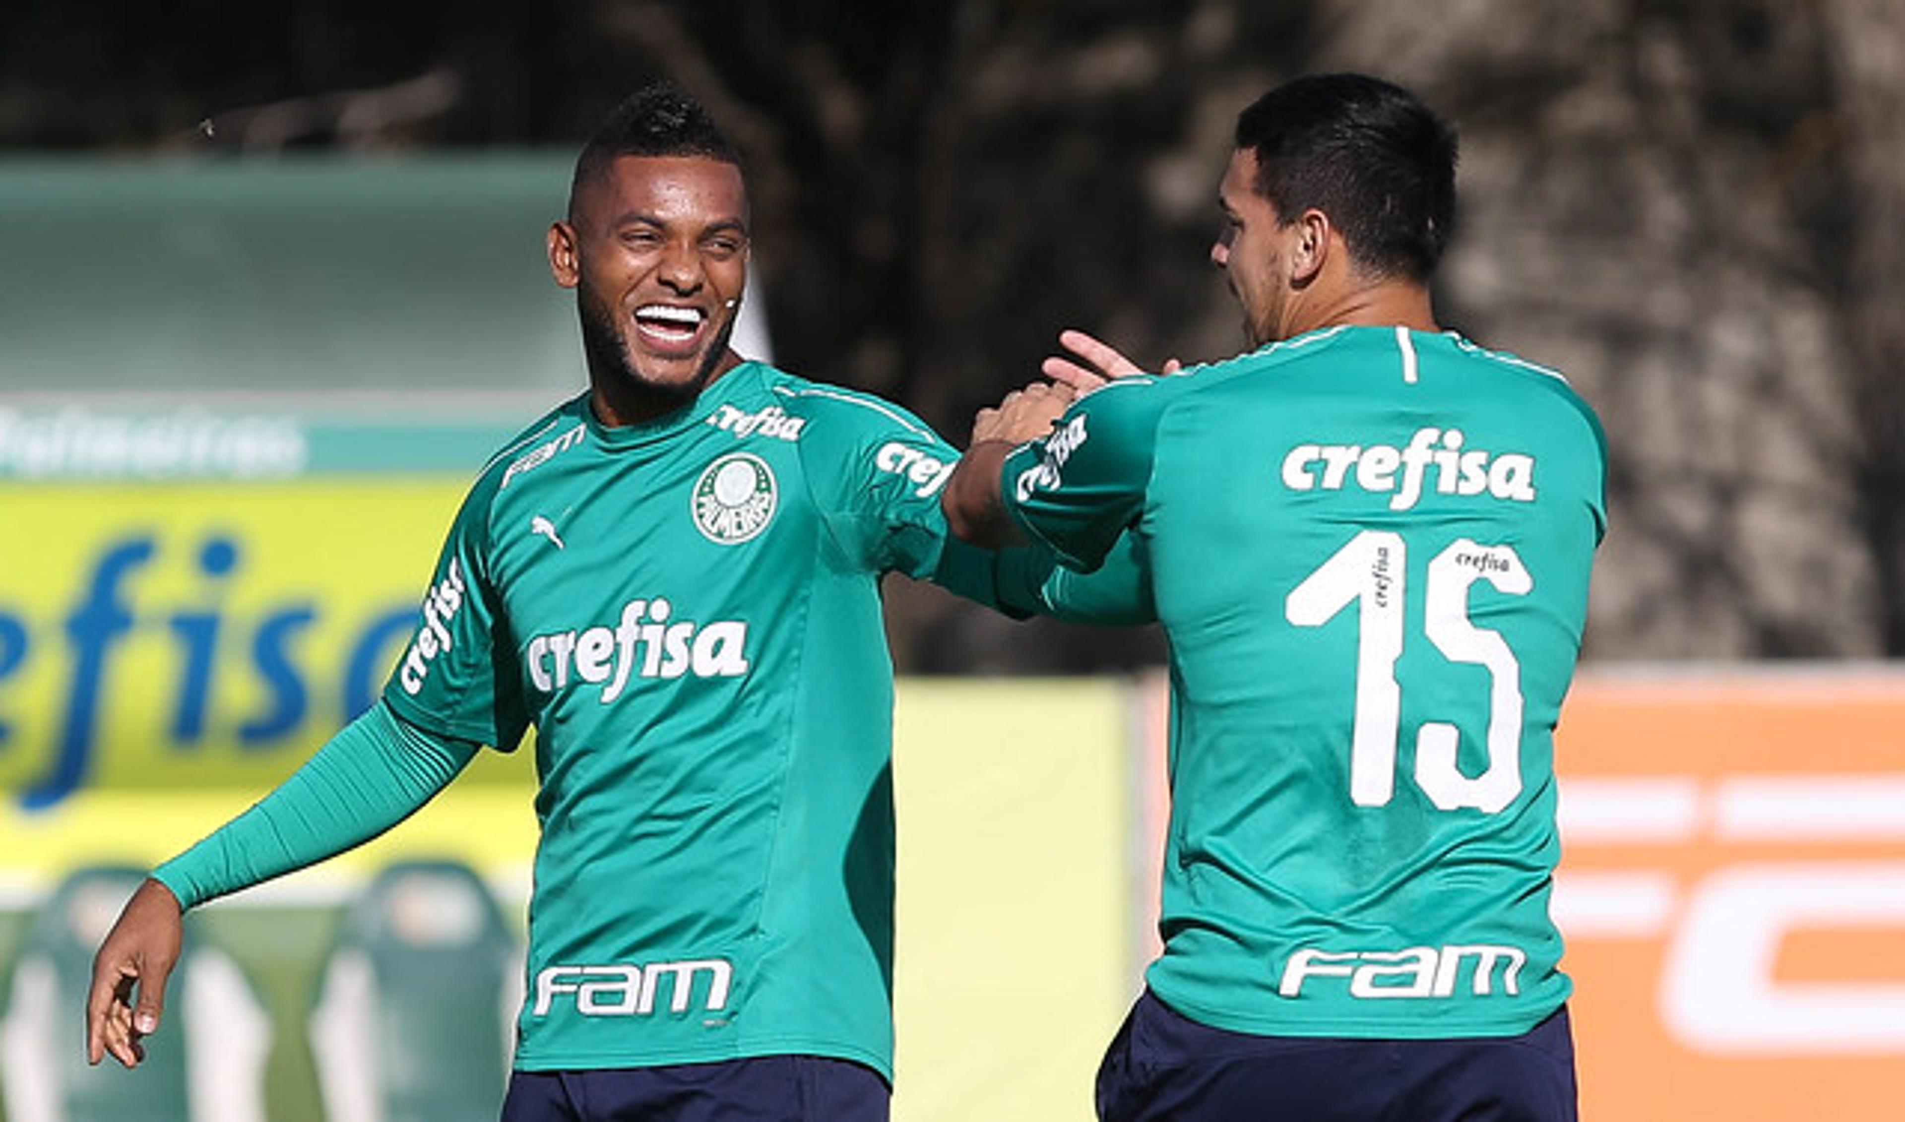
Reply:
[[[179,960],[185,909],[314,865],[415,813],[482,745],[427,733],[373,705],[251,810],[225,823],[139,886],[93,956],[86,1059],[145,1057],[166,979]]]

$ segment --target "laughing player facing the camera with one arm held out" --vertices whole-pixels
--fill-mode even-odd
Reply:
[[[629,99],[549,230],[589,391],[459,511],[381,701],[154,871],[99,949],[88,1055],[158,1027],[179,912],[356,846],[533,726],[541,842],[509,1120],[888,1116],[884,571],[993,600],[949,537],[956,451],[907,411],[728,349],[741,168]]]

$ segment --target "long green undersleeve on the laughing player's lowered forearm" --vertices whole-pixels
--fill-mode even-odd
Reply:
[[[415,813],[482,745],[434,735],[379,701],[251,810],[152,871],[196,907],[362,846]]]

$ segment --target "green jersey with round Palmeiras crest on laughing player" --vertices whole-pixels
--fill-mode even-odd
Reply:
[[[762,364],[604,427],[587,394],[482,472],[385,686],[509,749],[541,842],[522,1071],[768,1053],[892,1074],[892,659],[878,577],[960,587],[956,451]]]

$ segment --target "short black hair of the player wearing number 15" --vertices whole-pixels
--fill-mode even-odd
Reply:
[[[1414,93],[1364,74],[1314,74],[1236,116],[1257,194],[1282,221],[1320,210],[1351,257],[1429,280],[1455,225],[1455,130]]]

